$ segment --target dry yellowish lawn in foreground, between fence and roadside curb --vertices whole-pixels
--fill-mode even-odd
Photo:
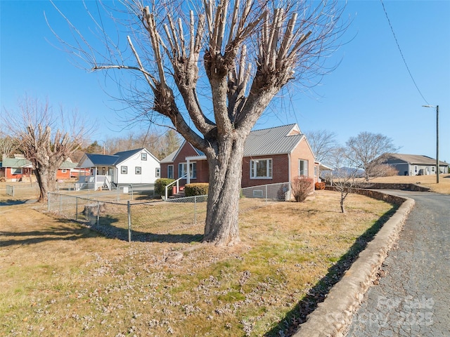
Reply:
[[[231,248],[199,244],[200,225],[129,244],[28,204],[1,206],[0,335],[280,336],[392,213],[359,195],[339,213],[328,191],[243,202]]]

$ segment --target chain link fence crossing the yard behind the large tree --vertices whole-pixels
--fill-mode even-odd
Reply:
[[[176,242],[198,241],[205,225],[207,195],[141,202],[132,192],[129,200],[115,200],[117,194],[49,193],[47,211],[86,224],[107,237],[128,241]],[[269,202],[284,201],[289,184],[248,187],[242,190],[240,211],[264,207]],[[134,200],[133,200],[134,199]]]

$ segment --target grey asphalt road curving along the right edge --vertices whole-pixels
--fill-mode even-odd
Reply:
[[[392,191],[390,191],[392,193]],[[416,201],[399,242],[353,317],[347,337],[450,336],[450,195]]]

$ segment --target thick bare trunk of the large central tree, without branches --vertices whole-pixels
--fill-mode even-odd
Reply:
[[[240,241],[238,213],[245,137],[223,143],[219,155],[208,160],[210,189],[203,242],[231,246]]]

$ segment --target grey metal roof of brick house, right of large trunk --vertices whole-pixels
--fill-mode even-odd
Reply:
[[[244,157],[290,153],[302,138],[297,124],[252,131],[245,141]]]

